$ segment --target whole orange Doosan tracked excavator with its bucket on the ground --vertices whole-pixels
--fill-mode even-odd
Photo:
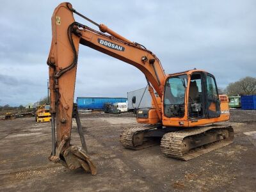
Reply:
[[[99,31],[76,22],[74,14]],[[156,145],[156,138],[160,138],[163,154],[188,161],[234,140],[234,130],[227,122],[228,97],[219,95],[216,79],[209,72],[194,68],[165,74],[153,52],[85,17],[70,3],[57,6],[51,22],[52,43],[47,59],[52,118],[50,161],[70,170],[83,168],[92,175],[97,173],[87,152],[77,105],[73,103],[79,44],[133,65],[145,75],[152,107],[138,109],[140,125],[122,131],[122,147],[139,150]],[[82,147],[70,143],[72,118],[76,118]]]

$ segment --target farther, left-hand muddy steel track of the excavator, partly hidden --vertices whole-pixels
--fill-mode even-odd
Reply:
[[[156,142],[144,136],[144,134],[152,129],[156,129],[159,125],[144,125],[140,127],[132,127],[124,129],[120,134],[120,143],[124,148],[140,150],[142,148],[157,145]]]

